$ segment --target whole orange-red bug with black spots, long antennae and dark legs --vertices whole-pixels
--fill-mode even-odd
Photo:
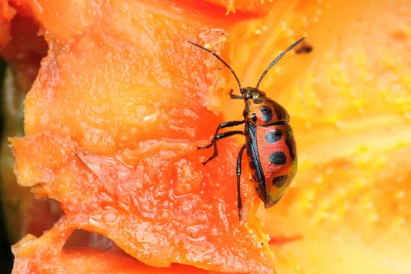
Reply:
[[[242,121],[221,123],[217,127],[210,144],[205,147],[198,147],[198,149],[214,147],[213,155],[206,160],[206,162],[203,162],[203,164],[207,164],[219,154],[217,149],[218,140],[237,134],[245,136],[245,144],[242,145],[238,153],[236,169],[238,218],[240,220],[242,216],[240,176],[242,153],[244,150],[247,151],[249,168],[251,170],[251,181],[256,188],[258,197],[264,202],[265,208],[271,208],[281,199],[297,172],[297,152],[292,128],[289,124],[290,116],[282,105],[279,105],[279,103],[267,97],[264,92],[258,90],[258,86],[269,69],[271,69],[287,51],[290,51],[303,39],[304,38],[301,38],[292,44],[286,51],[283,51],[271,62],[269,67],[262,73],[256,88],[242,88],[236,73],[234,73],[233,69],[221,59],[219,55],[210,51],[210,49],[188,41],[191,45],[212,53],[215,58],[227,66],[236,78],[241,93],[241,95],[234,95],[233,90],[230,90],[229,96],[232,99],[243,99],[245,103],[245,108],[242,112],[244,119],[242,119]],[[242,124],[245,124],[243,131],[233,130],[219,134],[220,129]]]

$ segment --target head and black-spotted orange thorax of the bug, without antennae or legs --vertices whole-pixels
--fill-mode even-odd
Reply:
[[[245,117],[256,126],[284,125],[290,121],[287,110],[256,88],[244,88]]]

